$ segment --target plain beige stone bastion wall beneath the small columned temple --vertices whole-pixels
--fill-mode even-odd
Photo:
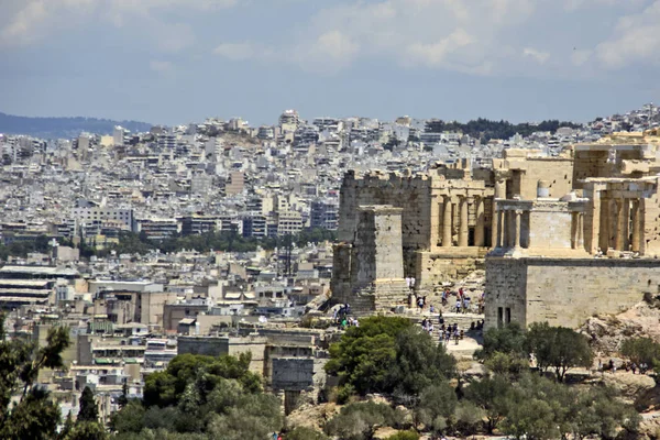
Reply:
[[[659,284],[659,260],[490,256],[486,328],[497,327],[501,316],[506,322],[507,309],[524,326],[576,328],[591,316],[630,308]]]

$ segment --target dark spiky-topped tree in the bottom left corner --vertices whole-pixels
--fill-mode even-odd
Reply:
[[[68,345],[66,327],[51,328],[41,348],[34,341],[8,340],[4,316],[0,316],[0,438],[55,438],[59,407],[37,386],[36,378],[42,369],[63,366],[62,352]]]

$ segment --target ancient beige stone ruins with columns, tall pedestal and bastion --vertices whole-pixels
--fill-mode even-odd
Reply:
[[[486,327],[580,326],[660,285],[660,132],[615,133],[558,157],[506,150],[425,174],[349,172],[332,296],[358,311],[403,305],[486,270]]]

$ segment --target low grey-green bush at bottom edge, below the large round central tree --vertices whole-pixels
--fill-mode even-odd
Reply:
[[[396,413],[373,402],[350,404],[326,424],[326,432],[344,440],[369,440],[375,428],[395,426]]]

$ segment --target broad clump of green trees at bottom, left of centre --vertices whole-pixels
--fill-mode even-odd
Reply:
[[[131,439],[179,438],[175,432],[205,439],[267,438],[282,427],[280,403],[262,394],[261,378],[249,366],[248,354],[176,356],[166,371],[146,377],[143,402],[129,402],[112,417],[111,428],[118,438]]]

